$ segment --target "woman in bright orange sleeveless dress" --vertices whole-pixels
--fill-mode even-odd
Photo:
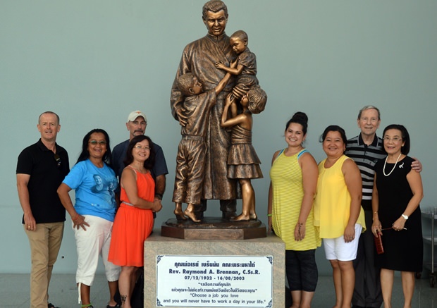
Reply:
[[[144,265],[144,240],[152,233],[153,212],[162,208],[161,200],[154,198],[155,183],[150,174],[153,164],[152,140],[144,135],[130,140],[108,257],[121,266],[118,288],[125,308],[131,307],[137,269]]]

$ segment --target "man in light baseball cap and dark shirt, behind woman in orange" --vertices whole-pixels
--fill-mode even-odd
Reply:
[[[146,126],[147,117],[142,111],[137,110],[129,113],[128,122],[126,123],[126,128],[129,130],[129,139],[117,144],[112,151],[113,169],[118,176],[118,182],[120,182],[121,173],[125,168],[123,161],[126,158],[129,142],[135,136],[144,135]],[[154,142],[152,146],[155,152],[155,165],[151,170],[152,177],[155,180],[155,198],[161,200],[162,195],[164,195],[164,190],[166,190],[166,174],[168,174],[167,164],[162,148]]]

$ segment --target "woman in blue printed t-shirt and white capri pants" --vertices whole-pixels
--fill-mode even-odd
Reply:
[[[118,307],[113,296],[118,288],[119,266],[108,261],[111,230],[116,214],[114,190],[116,174],[111,168],[109,136],[101,129],[91,130],[82,141],[78,162],[58,188],[59,198],[73,221],[78,269],[76,283],[82,307],[91,307],[90,288],[99,263],[103,259],[109,285],[108,307]],[[98,178],[98,182],[96,178]],[[95,186],[99,185],[100,190]],[[68,192],[75,190],[75,205]]]

